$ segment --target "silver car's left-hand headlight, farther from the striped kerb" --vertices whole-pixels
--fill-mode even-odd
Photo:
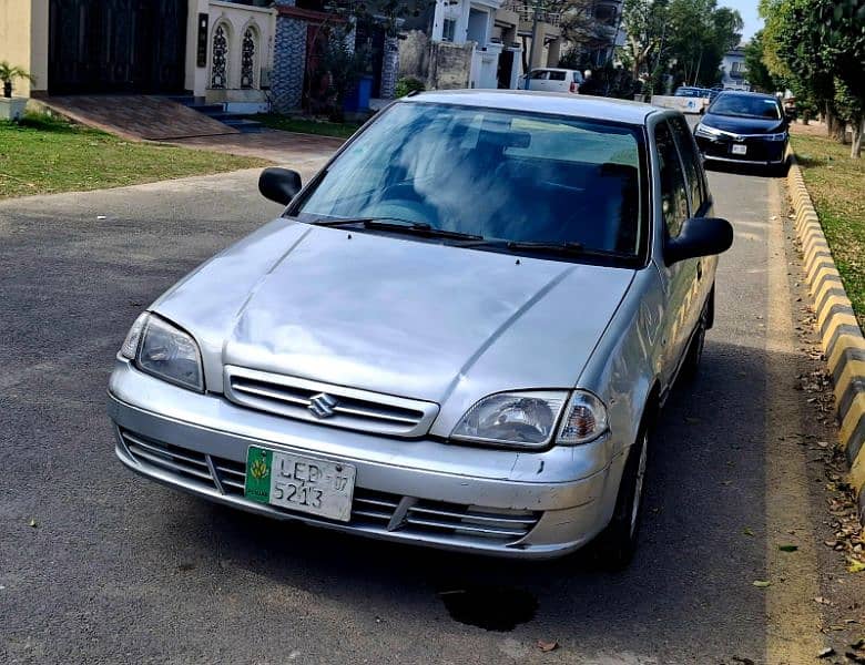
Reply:
[[[120,349],[144,372],[204,391],[199,345],[186,332],[155,315],[142,314]]]

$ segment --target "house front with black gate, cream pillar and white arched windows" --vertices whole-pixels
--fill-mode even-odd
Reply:
[[[186,94],[265,105],[269,0],[29,0],[0,3],[0,61],[30,71],[22,96]]]

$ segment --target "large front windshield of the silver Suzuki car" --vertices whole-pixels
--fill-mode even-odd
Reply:
[[[289,213],[635,257],[641,136],[640,127],[576,117],[397,103]]]

